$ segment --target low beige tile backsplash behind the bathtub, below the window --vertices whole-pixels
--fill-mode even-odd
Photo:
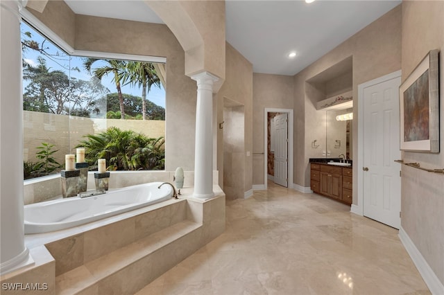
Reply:
[[[94,172],[89,171],[87,190],[94,190]],[[184,186],[194,186],[194,171],[185,171]],[[173,184],[174,171],[112,171],[110,172],[109,189],[124,188],[147,182],[166,181]],[[213,184],[217,184],[219,172],[213,171]],[[24,181],[24,204],[33,204],[62,197],[60,174],[28,179]]]

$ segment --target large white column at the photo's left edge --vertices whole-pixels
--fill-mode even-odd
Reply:
[[[32,262],[24,245],[23,98],[19,9],[0,1],[0,272]]]

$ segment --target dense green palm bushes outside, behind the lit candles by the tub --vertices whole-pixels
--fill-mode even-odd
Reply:
[[[148,138],[132,130],[111,127],[100,134],[87,134],[77,147],[85,147],[85,161],[97,167],[106,159],[108,170],[163,170],[164,138]]]

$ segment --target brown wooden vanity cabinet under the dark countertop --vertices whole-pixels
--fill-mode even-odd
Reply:
[[[314,193],[352,204],[352,168],[324,163],[311,163],[310,166],[310,188]]]

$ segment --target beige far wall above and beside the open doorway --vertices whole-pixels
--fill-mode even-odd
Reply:
[[[293,109],[293,77],[253,73],[253,184],[264,184],[264,109]],[[294,109],[298,117],[300,110]],[[295,141],[295,145],[299,145]],[[298,163],[295,161],[295,165]],[[291,179],[289,179],[291,184]]]

